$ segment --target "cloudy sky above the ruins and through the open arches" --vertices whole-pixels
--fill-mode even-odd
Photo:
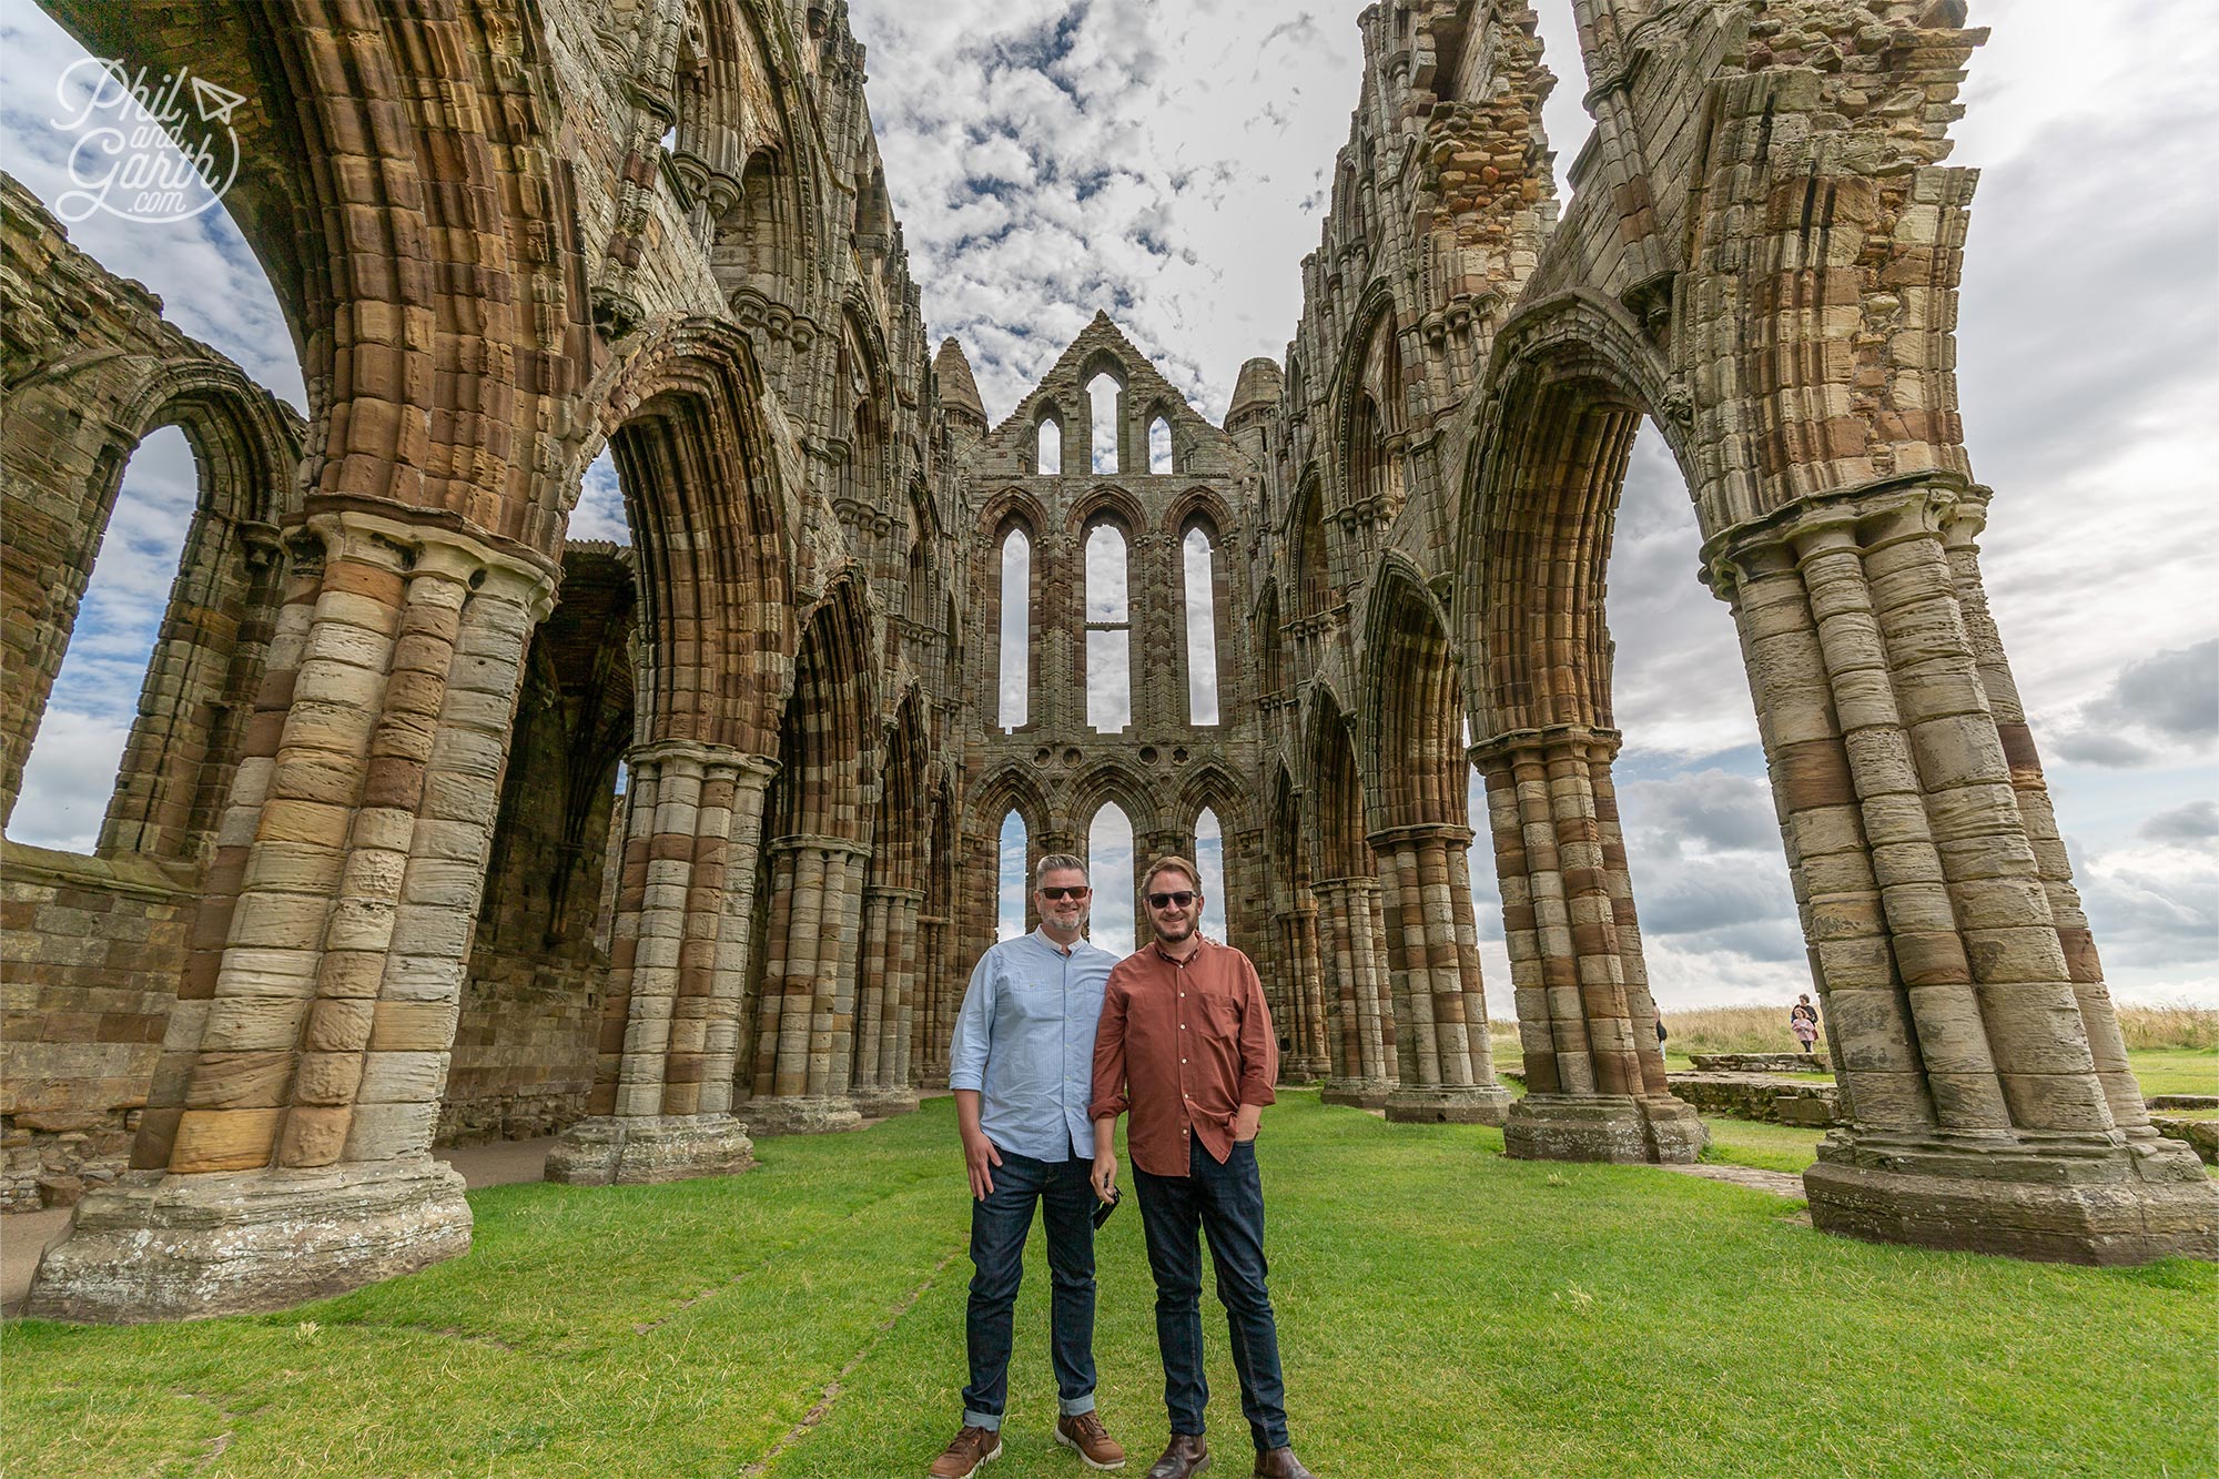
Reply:
[[[1096,309],[1212,420],[1243,360],[1285,351],[1356,102],[1358,9],[854,0],[925,315],[934,340],[963,340],[990,415]],[[1569,0],[1536,9],[1558,73],[1575,76]],[[1997,491],[1990,595],[2110,982],[2124,997],[2219,1004],[2219,600],[2203,569],[2219,549],[2219,27],[2192,0],[2132,18],[1973,0],[1995,36],[1973,58],[1953,160],[1984,171],[1962,400],[1975,471]],[[0,0],[0,164],[49,202],[67,158],[49,100],[75,56],[27,0]],[[1549,104],[1562,164],[1587,133],[1580,91],[1571,80]],[[277,309],[226,220],[153,231],[95,215],[75,240],[300,402]],[[575,533],[610,537],[612,473],[597,480]],[[175,509],[189,457],[149,440],[126,484],[149,511]],[[182,520],[149,513],[102,557],[102,580],[124,566],[120,595],[98,597],[107,615],[78,642],[91,677],[47,720],[36,762],[55,768],[38,773],[18,837],[49,828],[82,846],[98,826],[104,782],[87,775],[102,762],[87,757],[129,724],[118,633],[151,631],[149,593],[166,586],[158,526]],[[1695,584],[1695,542],[1671,460],[1644,437],[1611,626],[1651,979],[1666,1006],[1780,1002],[1804,986],[1802,946],[1731,622]],[[1491,882],[1480,893],[1502,1010]]]

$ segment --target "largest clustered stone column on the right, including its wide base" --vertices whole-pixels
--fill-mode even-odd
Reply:
[[[1808,497],[1704,551],[1848,1101],[1804,1175],[1811,1217],[2081,1264],[2219,1257],[2201,1164],[2112,1113],[2108,1002],[2093,950],[2093,979],[2068,962],[2070,877],[2041,859],[2046,795],[2028,808],[2039,773],[2006,740],[2024,720],[1946,533],[1966,495],[1935,477]]]

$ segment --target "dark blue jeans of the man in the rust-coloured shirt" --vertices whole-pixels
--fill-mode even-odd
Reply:
[[[1209,1235],[1218,1304],[1240,1375],[1240,1415],[1256,1450],[1287,1446],[1287,1386],[1278,1370],[1278,1321],[1265,1288],[1263,1179],[1256,1146],[1234,1144],[1223,1166],[1196,1141],[1187,1175],[1154,1177],[1132,1168],[1147,1230],[1147,1266],[1156,1275],[1156,1346],[1163,1350],[1163,1406],[1172,1432],[1203,1432],[1209,1381],[1203,1377],[1203,1252]]]

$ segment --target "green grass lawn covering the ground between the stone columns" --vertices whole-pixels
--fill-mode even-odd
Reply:
[[[1722,1126],[1726,1155],[1813,1135]],[[1879,1248],[1800,1201],[1522,1164],[1485,1128],[1287,1093],[1265,1119],[1296,1439],[1327,1479],[2208,1475],[2219,1268]],[[970,1264],[948,1099],[772,1139],[746,1177],[473,1193],[457,1261],[288,1315],[4,1330],[9,1475],[923,1475],[952,1435]],[[1784,1166],[1797,1168],[1797,1166]],[[1005,1457],[1047,1437],[1027,1264]],[[1101,1406],[1163,1443],[1141,1219],[1101,1237]],[[1214,1472],[1247,1472],[1205,1319]]]

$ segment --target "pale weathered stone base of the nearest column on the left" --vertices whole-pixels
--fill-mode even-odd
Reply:
[[[470,1250],[462,1175],[430,1155],[313,1170],[129,1173],[87,1193],[24,1315],[146,1324],[284,1310]]]

